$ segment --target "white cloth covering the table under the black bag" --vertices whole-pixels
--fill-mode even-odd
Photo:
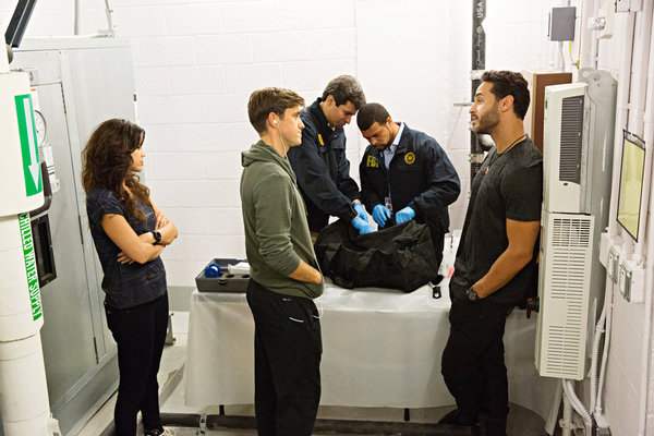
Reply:
[[[434,300],[412,293],[347,290],[328,283],[323,314],[323,405],[428,408],[453,404],[440,356],[449,336],[447,283]],[[511,314],[505,334],[510,401],[547,416],[556,380],[534,368],[536,322]],[[254,401],[254,322],[244,294],[192,295],[185,401],[193,405]]]

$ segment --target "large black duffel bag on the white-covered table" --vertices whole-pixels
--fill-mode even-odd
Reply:
[[[429,229],[414,220],[368,234],[338,220],[320,231],[314,249],[323,274],[348,289],[412,292],[438,276]]]

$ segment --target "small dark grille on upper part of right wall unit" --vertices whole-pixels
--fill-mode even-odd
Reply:
[[[583,96],[564,98],[561,108],[561,154],[559,180],[580,183]]]

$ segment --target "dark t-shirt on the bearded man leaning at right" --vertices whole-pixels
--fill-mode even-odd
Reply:
[[[450,284],[452,296],[459,299],[465,299],[465,290],[484,277],[507,250],[507,219],[541,220],[541,153],[529,137],[502,154],[493,148],[474,178],[471,191]],[[534,246],[532,261],[487,299],[498,303],[520,302],[534,283],[537,250]]]

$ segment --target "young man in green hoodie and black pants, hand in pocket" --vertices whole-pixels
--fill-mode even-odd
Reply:
[[[320,399],[323,344],[313,299],[323,293],[323,276],[286,156],[302,142],[303,107],[301,96],[283,88],[255,90],[247,104],[261,136],[243,152],[241,175],[259,436],[310,436]]]

